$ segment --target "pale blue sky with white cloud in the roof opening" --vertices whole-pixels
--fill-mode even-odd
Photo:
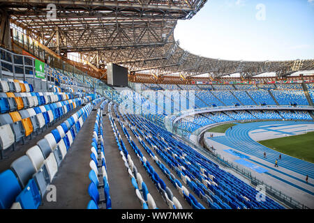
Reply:
[[[215,59],[314,59],[314,0],[208,0],[174,38]]]

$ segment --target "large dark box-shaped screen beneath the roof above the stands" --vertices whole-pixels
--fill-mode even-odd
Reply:
[[[128,86],[128,68],[108,63],[107,84],[112,86]]]

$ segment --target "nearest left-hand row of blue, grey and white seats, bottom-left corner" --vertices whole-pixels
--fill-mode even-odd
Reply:
[[[92,108],[82,107],[0,174],[0,208],[38,208]]]

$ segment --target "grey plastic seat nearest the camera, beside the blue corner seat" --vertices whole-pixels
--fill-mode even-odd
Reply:
[[[13,161],[10,168],[17,176],[17,179],[23,188],[27,185],[33,174],[36,173],[36,169],[33,167],[33,164],[27,155],[22,155],[22,157]]]

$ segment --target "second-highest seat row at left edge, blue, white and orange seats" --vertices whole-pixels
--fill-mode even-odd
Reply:
[[[48,105],[53,102],[82,97],[85,93],[52,93],[52,92],[32,92],[32,93],[0,93],[0,113],[13,112],[20,109],[27,109],[40,105]]]

